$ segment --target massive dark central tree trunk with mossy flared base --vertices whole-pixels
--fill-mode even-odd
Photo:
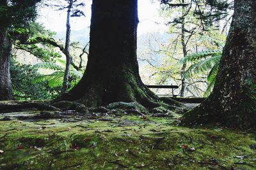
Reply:
[[[143,84],[136,56],[138,0],[93,0],[88,64],[82,80],[61,100],[87,106],[138,101],[154,107],[158,97]]]

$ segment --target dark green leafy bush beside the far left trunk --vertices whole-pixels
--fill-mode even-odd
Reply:
[[[20,64],[12,59],[10,73],[15,99],[53,99],[60,92],[60,88],[49,87],[47,81],[31,83],[40,74],[29,64]]]

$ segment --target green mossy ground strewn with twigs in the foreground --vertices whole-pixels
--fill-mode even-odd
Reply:
[[[256,134],[172,121],[0,121],[0,169],[256,169]]]

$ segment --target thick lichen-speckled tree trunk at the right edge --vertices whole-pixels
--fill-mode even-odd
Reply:
[[[235,0],[234,18],[212,94],[184,115],[182,124],[221,123],[255,127],[256,103],[248,81],[256,83],[256,1]],[[254,107],[254,108],[253,108]]]

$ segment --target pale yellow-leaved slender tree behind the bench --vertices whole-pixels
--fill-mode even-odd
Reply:
[[[206,4],[202,1],[198,1],[198,5],[202,10],[206,8]],[[152,43],[150,51],[157,56],[155,57],[157,62],[145,57],[149,63],[148,67],[154,71],[152,77],[157,80],[156,83],[179,85],[181,97],[202,97],[205,90],[211,88],[207,86],[207,71],[204,71],[204,74],[188,76],[186,70],[191,68],[193,62],[187,63],[185,59],[179,62],[179,60],[191,53],[222,50],[226,39],[226,35],[220,31],[223,24],[218,24],[225,19],[221,17],[218,22],[207,23],[200,20],[199,14],[195,15],[195,8],[194,1],[173,0],[162,4],[160,15],[169,26],[168,34],[164,36],[169,39],[165,42],[159,40],[150,42]],[[197,66],[199,67],[199,64]]]

